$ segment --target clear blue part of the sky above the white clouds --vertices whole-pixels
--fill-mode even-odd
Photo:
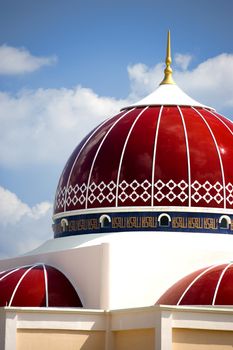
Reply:
[[[193,65],[229,52],[232,41],[231,0],[2,0],[0,9],[1,44],[58,57],[50,69],[2,77],[1,89],[10,91],[79,83],[124,98],[127,65],[160,62],[168,28],[174,50],[192,53]]]

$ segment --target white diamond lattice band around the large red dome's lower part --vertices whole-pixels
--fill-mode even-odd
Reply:
[[[98,203],[102,204],[107,201],[113,207],[115,206],[116,200],[116,187],[117,184],[114,181],[105,183],[101,181],[99,184],[92,182],[88,189],[88,203],[91,205]],[[191,183],[191,199],[196,204],[201,200],[209,204],[215,202],[220,204],[223,202],[223,185],[220,182],[210,183],[205,181],[200,183],[195,180]],[[226,190],[226,201],[230,205],[233,204],[233,184],[228,183],[225,187]],[[145,205],[148,204],[148,200],[151,199],[152,184],[145,179],[142,182],[136,179],[127,182],[123,180],[119,183],[118,188],[118,200],[121,204],[124,204],[130,200],[134,204],[138,199],[141,199]],[[75,186],[69,185],[60,187],[56,193],[55,206],[56,209],[67,208],[70,206],[83,206],[86,201],[87,195],[87,184],[81,185],[76,184]],[[184,180],[175,182],[170,179],[168,182],[164,182],[161,179],[154,183],[154,199],[158,203],[162,202],[163,199],[167,199],[171,205],[175,200],[179,200],[181,205],[188,199],[188,183]]]

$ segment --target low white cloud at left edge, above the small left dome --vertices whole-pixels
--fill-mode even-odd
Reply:
[[[16,194],[0,186],[0,257],[26,253],[52,238],[52,205],[30,208]]]

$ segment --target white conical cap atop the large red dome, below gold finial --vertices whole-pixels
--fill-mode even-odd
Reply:
[[[192,99],[184,91],[182,91],[177,85],[164,84],[159,85],[158,88],[150,95],[146,96],[142,100],[126,106],[122,109],[132,107],[143,106],[193,106],[207,108],[214,111],[215,109]]]

